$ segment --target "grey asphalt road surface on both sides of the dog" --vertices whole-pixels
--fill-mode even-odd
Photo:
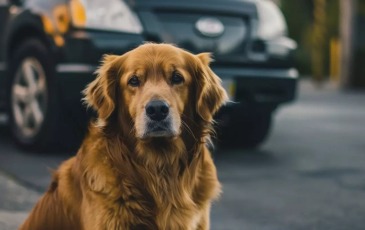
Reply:
[[[47,166],[69,155],[29,154],[1,133],[0,169],[38,190],[49,181]],[[260,150],[214,158],[224,193],[212,208],[213,230],[365,228],[365,93],[301,83]]]

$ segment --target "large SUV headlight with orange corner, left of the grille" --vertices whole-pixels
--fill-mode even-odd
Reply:
[[[71,0],[72,23],[76,27],[141,33],[138,16],[123,0]]]

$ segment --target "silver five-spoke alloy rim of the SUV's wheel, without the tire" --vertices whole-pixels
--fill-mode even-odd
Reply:
[[[23,137],[36,135],[43,123],[47,103],[44,70],[34,57],[23,59],[11,88],[14,123]]]

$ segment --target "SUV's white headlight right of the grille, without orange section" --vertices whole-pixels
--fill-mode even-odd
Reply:
[[[257,36],[262,40],[286,35],[286,21],[279,7],[271,0],[257,0]]]

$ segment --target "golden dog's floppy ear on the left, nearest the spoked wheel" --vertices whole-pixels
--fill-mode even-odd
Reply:
[[[115,84],[118,80],[116,60],[120,56],[104,55],[100,67],[95,71],[96,78],[82,91],[84,102],[93,107],[98,118],[105,120],[115,108]]]

